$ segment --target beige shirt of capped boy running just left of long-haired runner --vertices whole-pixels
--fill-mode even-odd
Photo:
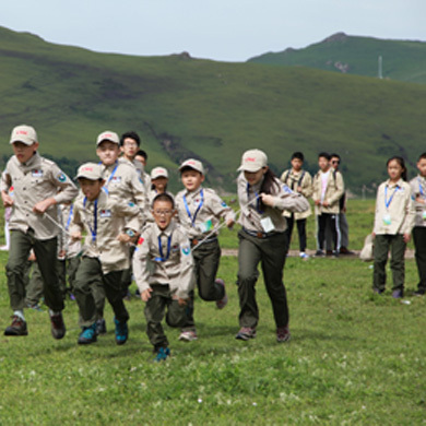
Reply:
[[[221,222],[221,217],[225,222],[235,221],[233,209],[210,188],[200,187],[192,192],[185,189],[176,196],[175,202],[178,221],[190,239],[202,239],[203,236],[212,233]],[[217,232],[212,234],[212,237],[216,235]]]

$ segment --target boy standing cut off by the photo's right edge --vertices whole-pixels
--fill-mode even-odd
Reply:
[[[410,181],[411,191],[415,200],[415,224],[413,241],[418,271],[418,286],[414,293],[424,296],[426,293],[426,152],[417,161],[418,176]]]

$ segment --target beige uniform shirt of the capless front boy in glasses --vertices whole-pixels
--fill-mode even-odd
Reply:
[[[153,268],[146,268],[147,261]],[[188,298],[194,277],[190,242],[185,229],[176,222],[164,230],[155,223],[147,224],[133,255],[133,274],[141,293],[151,284],[168,284],[177,297]]]

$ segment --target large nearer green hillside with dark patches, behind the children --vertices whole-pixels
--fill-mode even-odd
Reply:
[[[105,130],[142,134],[149,166],[176,174],[201,158],[209,184],[235,191],[241,153],[263,149],[275,171],[295,150],[342,154],[353,191],[386,176],[388,156],[426,151],[426,86],[299,67],[130,57],[57,46],[0,27],[0,155],[19,123],[62,163],[95,157]],[[149,167],[149,168],[150,168]],[[171,189],[179,187],[178,182]]]

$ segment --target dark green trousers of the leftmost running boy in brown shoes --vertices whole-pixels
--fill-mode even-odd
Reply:
[[[54,311],[63,309],[63,299],[59,287],[56,265],[57,238],[39,240],[34,230],[26,234],[21,230],[11,230],[9,260],[5,265],[10,304],[13,310],[25,307],[25,263],[31,249],[34,249],[37,264],[43,276],[43,294],[45,304]]]

